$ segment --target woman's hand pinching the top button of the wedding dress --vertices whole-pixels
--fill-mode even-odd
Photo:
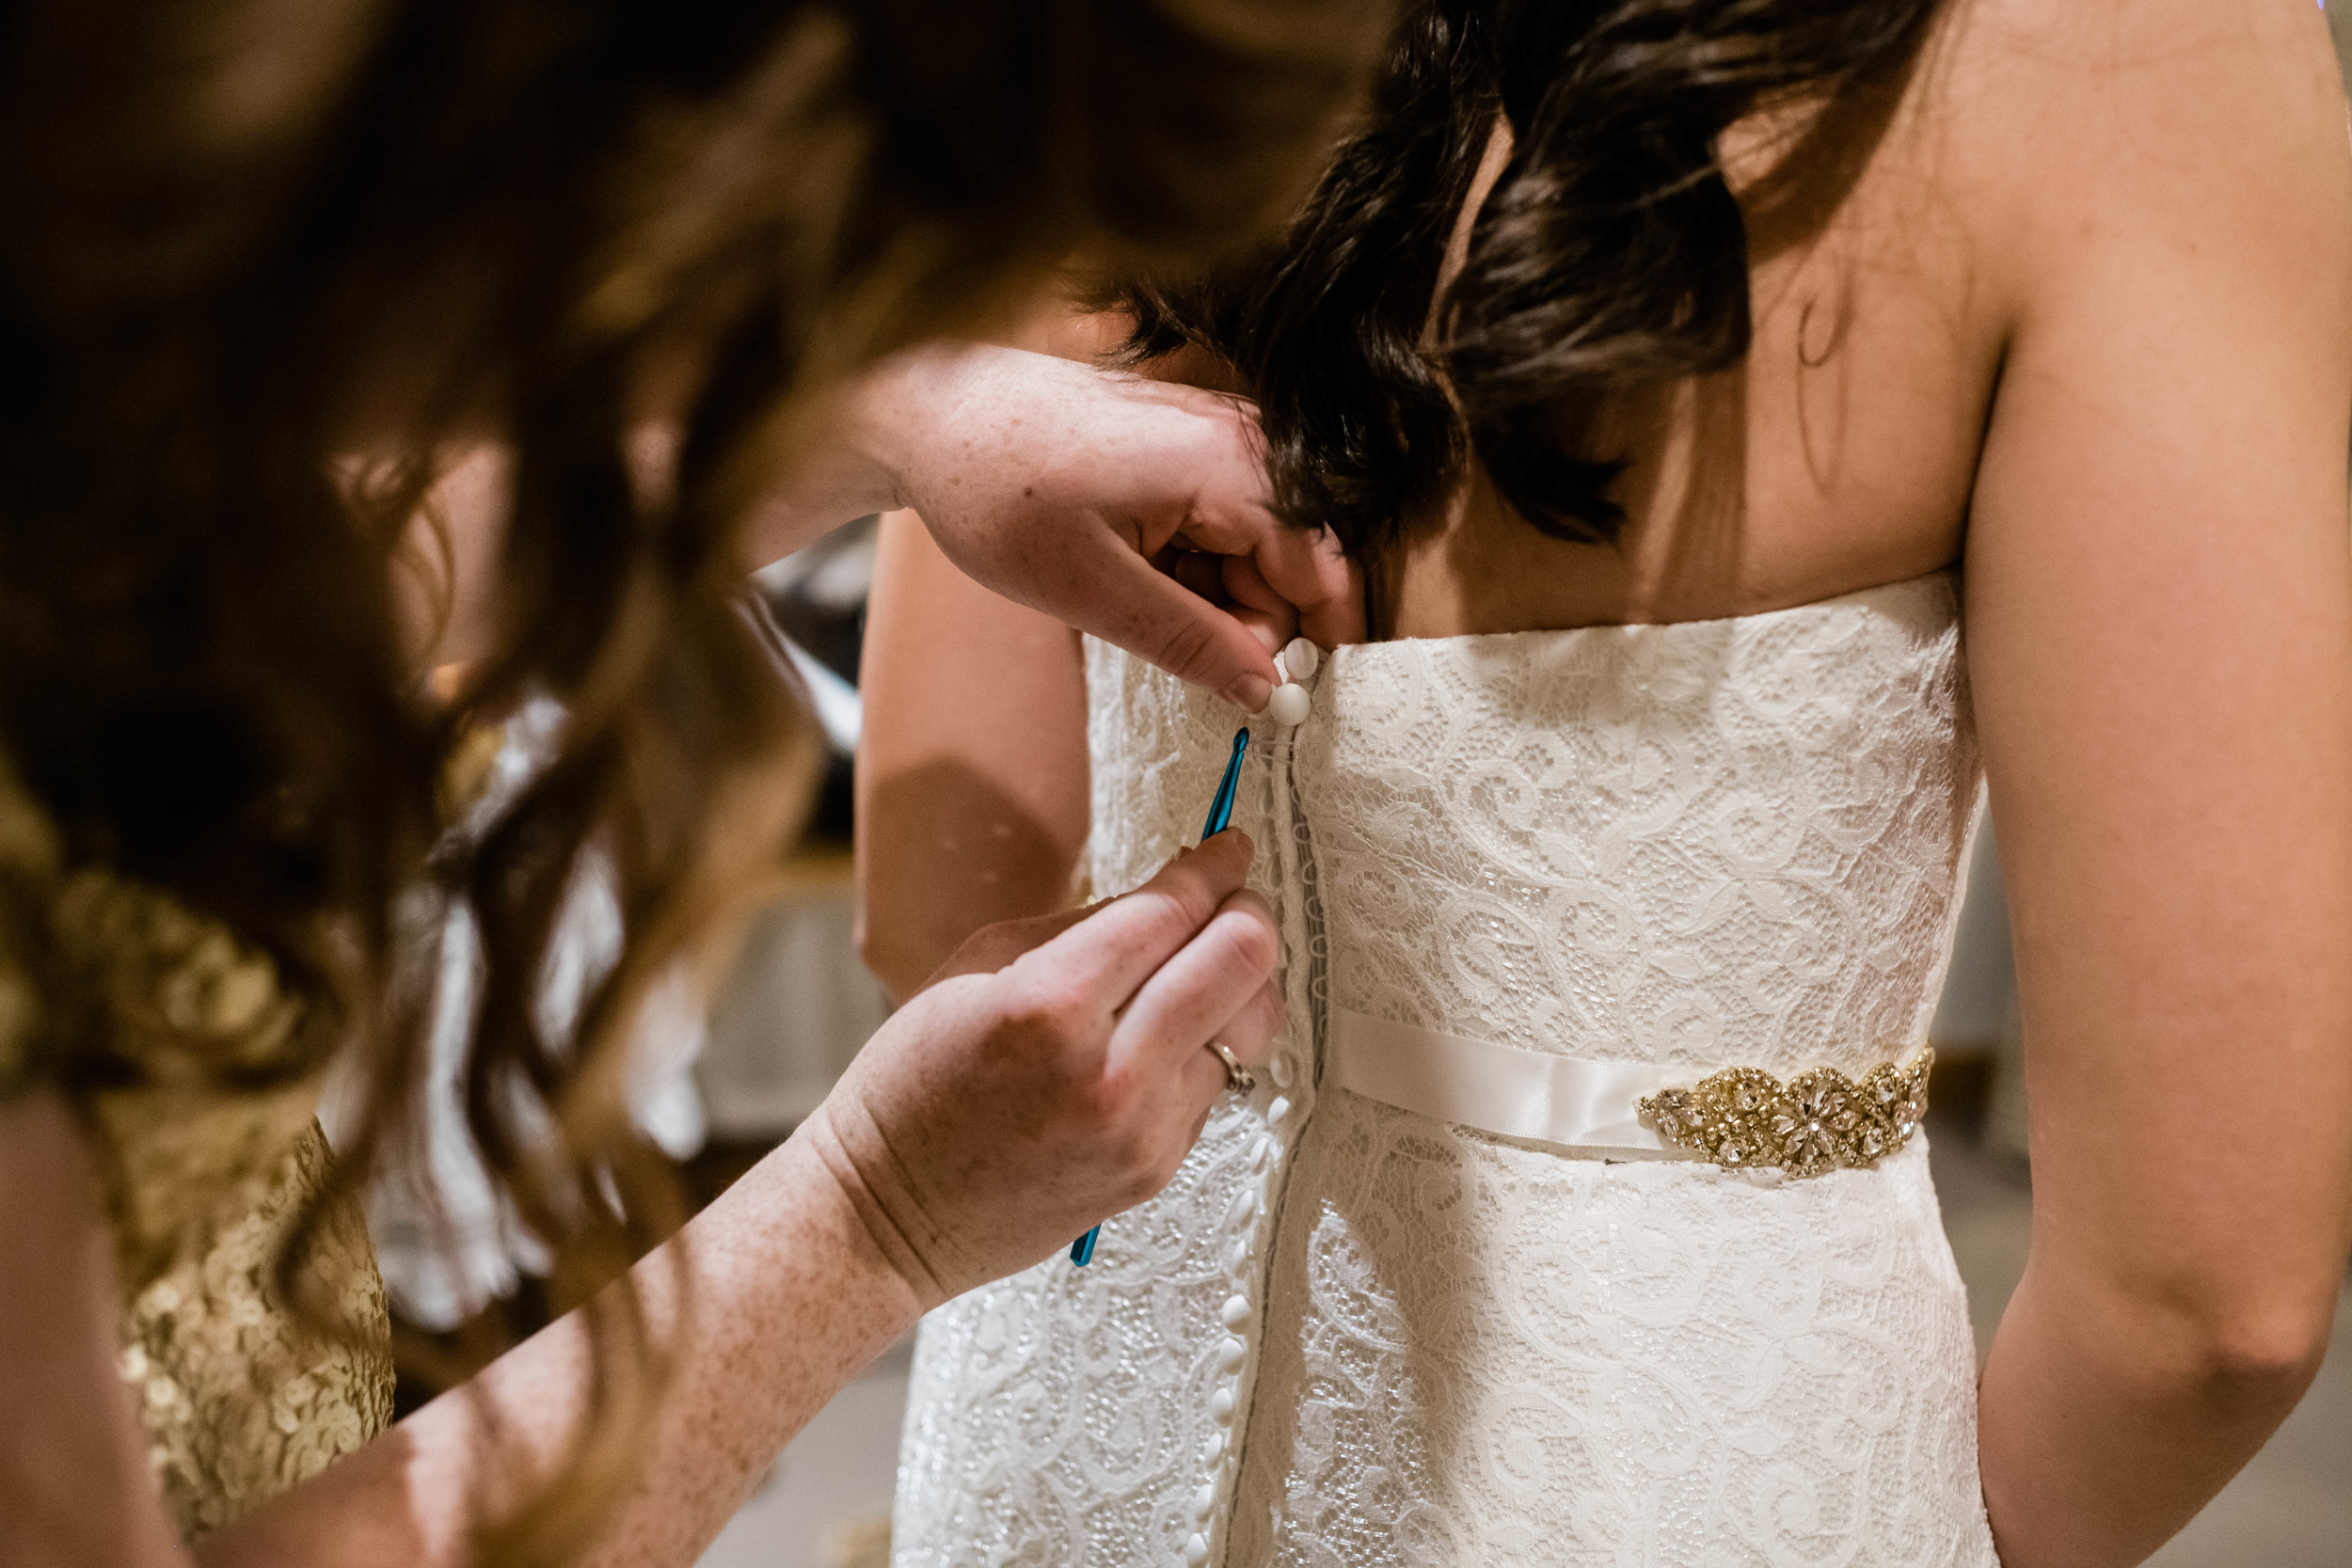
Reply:
[[[1291,635],[1364,637],[1362,581],[1336,538],[1270,510],[1240,397],[1016,348],[929,348],[863,388],[851,440],[974,581],[1249,712]]]

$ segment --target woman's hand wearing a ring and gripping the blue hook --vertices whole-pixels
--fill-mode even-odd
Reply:
[[[1282,1023],[1279,938],[1223,832],[1089,912],[976,933],[802,1138],[922,1307],[1160,1192]]]

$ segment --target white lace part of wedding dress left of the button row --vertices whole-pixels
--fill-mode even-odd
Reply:
[[[1200,830],[1232,741],[1232,710],[1174,682],[1141,679],[1089,644],[1098,891],[1136,886]],[[1282,842],[1270,736],[1242,766],[1232,825],[1251,835],[1251,882],[1279,886]],[[1289,748],[1282,748],[1284,752]],[[1301,973],[1303,931],[1284,910]],[[1296,990],[1296,987],[1294,987]],[[1298,1063],[1303,1004],[1277,1051]],[[1301,1072],[1284,1067],[1291,1093]],[[1265,1110],[1282,1088],[1225,1098],[1174,1182],[1103,1225],[1094,1262],[1061,1255],[969,1293],[922,1328],[891,1523],[898,1563],[1162,1563],[1197,1521],[1192,1493],[1230,1427],[1209,1418],[1230,1382],[1218,1366],[1223,1305],[1251,1293],[1279,1138]]]

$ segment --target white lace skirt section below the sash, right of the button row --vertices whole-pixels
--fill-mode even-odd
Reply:
[[[1334,1095],[1291,1187],[1228,1563],[1994,1563],[1924,1147],[1757,1187]]]

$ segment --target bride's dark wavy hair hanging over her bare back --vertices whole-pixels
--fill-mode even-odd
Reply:
[[[1261,407],[1275,505],[1378,562],[1472,456],[1536,529],[1616,541],[1623,470],[1583,423],[1748,353],[1724,132],[1797,110],[1778,174],[1851,176],[1940,0],[1418,0],[1284,235],[1129,275],[1134,360],[1221,357]],[[1498,120],[1468,261],[1446,237]]]

